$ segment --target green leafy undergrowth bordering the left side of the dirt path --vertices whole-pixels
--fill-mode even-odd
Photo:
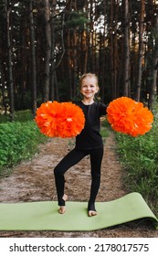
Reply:
[[[0,172],[29,159],[36,153],[37,144],[46,140],[30,117],[30,112],[18,112],[16,120],[20,122],[0,124]]]

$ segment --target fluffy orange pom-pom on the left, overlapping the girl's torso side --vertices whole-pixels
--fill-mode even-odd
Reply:
[[[68,138],[81,132],[85,117],[74,103],[47,101],[37,109],[35,121],[41,133],[49,137]]]

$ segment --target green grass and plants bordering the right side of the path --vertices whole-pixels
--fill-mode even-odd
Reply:
[[[156,211],[158,197],[158,122],[143,136],[131,137],[117,133],[117,146],[121,164],[127,173],[124,184],[137,191]]]

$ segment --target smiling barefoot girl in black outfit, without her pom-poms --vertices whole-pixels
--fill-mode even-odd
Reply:
[[[103,155],[103,143],[100,135],[100,116],[106,114],[106,105],[95,102],[94,96],[99,91],[98,78],[95,74],[84,74],[79,81],[82,101],[75,101],[84,112],[86,123],[84,129],[76,137],[75,148],[66,155],[55,167],[55,182],[58,193],[58,212],[66,211],[67,195],[64,194],[64,174],[73,165],[86,155],[90,155],[91,187],[90,200],[88,204],[88,215],[95,216],[95,199],[100,188],[100,165]]]

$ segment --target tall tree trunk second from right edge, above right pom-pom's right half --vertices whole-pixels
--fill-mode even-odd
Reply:
[[[141,12],[140,12],[140,23],[139,23],[139,58],[138,58],[138,80],[136,89],[136,101],[141,99],[141,83],[142,83],[142,54],[143,54],[143,22],[144,22],[145,3],[141,0]]]

